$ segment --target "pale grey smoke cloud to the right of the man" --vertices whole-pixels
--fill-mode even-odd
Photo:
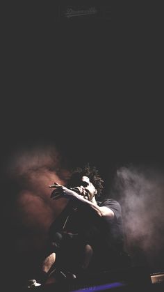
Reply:
[[[164,180],[153,167],[122,167],[117,170],[113,191],[120,200],[127,245],[136,246],[153,264],[164,246]]]

